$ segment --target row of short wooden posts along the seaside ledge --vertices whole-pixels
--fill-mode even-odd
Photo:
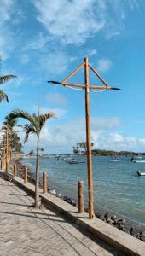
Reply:
[[[3,161],[1,161],[1,169],[3,166]],[[13,176],[17,176],[17,166],[14,164],[14,172]],[[27,167],[25,167],[24,170],[24,183],[27,183],[28,180],[28,173],[27,173]],[[48,191],[48,183],[47,183],[47,172],[43,172],[43,193],[47,193]],[[83,213],[84,212],[84,183],[83,181],[78,181],[78,212]]]

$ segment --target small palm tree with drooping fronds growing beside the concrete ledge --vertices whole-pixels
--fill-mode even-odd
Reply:
[[[39,188],[38,188],[38,174],[39,174],[39,138],[40,138],[40,132],[42,128],[44,127],[44,124],[46,121],[50,118],[55,118],[55,114],[52,112],[44,113],[44,114],[29,114],[23,110],[15,109],[14,111],[10,112],[8,116],[6,117],[8,122],[13,122],[13,120],[17,119],[26,119],[28,121],[28,124],[22,126],[23,130],[26,132],[26,136],[24,138],[24,143],[28,140],[28,137],[30,134],[36,134],[37,136],[37,156],[36,156],[36,184],[35,184],[35,202],[34,207],[39,208],[40,207],[40,201],[39,201]]]

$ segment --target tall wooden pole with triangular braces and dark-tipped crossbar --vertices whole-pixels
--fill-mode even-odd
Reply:
[[[84,67],[84,84],[69,83],[71,79],[78,71]],[[90,85],[89,84],[89,70],[92,70],[96,74],[97,78],[102,82],[102,85]],[[88,165],[88,196],[89,196],[89,218],[94,216],[94,200],[93,200],[93,174],[92,174],[92,160],[91,160],[91,142],[90,142],[90,90],[120,90],[119,88],[111,87],[107,84],[101,75],[96,71],[94,67],[91,67],[88,58],[84,58],[84,62],[71,73],[67,79],[62,82],[48,81],[52,84],[61,84],[63,86],[71,86],[81,88],[85,90],[85,119],[86,119],[86,143],[87,143],[87,165]]]

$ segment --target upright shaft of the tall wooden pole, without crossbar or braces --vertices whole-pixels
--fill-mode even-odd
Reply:
[[[88,197],[89,197],[89,218],[94,216],[93,206],[93,175],[91,162],[91,142],[90,142],[90,96],[89,96],[89,65],[88,58],[84,58],[84,80],[85,80],[85,120],[86,120],[86,146],[88,164]]]

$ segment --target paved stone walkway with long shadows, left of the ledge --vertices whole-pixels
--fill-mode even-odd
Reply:
[[[26,192],[0,178],[0,255],[122,255],[54,212],[44,207],[34,211],[32,203]]]

